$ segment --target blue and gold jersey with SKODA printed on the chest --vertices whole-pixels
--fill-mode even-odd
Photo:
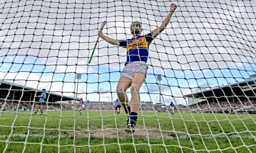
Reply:
[[[134,61],[145,61],[147,63],[148,46],[153,41],[153,39],[154,37],[150,32],[147,35],[139,35],[134,39],[120,41],[120,46],[126,48],[127,52],[127,60],[125,65]]]

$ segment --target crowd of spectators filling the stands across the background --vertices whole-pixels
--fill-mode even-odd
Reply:
[[[0,110],[31,110],[36,109],[37,103],[32,102],[20,102],[17,101],[0,101]],[[43,106],[44,110],[51,111],[73,111],[79,107],[78,103],[46,103]],[[186,108],[175,108],[175,112],[204,112],[204,113],[253,113],[256,114],[256,98],[252,100],[239,100],[239,101],[216,101],[208,102],[202,101],[190,105]],[[107,103],[85,103],[85,109],[88,111],[115,111],[115,104],[111,102]],[[140,104],[139,111],[156,111],[156,112],[168,112],[169,107],[155,105],[155,104]],[[121,107],[121,111],[124,108]]]

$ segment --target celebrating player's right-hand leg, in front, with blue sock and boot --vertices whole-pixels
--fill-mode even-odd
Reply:
[[[134,75],[134,80],[132,81],[131,85],[131,113],[130,113],[130,124],[126,126],[126,132],[134,132],[135,125],[137,123],[137,115],[139,112],[139,104],[141,101],[139,89],[141,88],[141,85],[145,81],[145,75],[142,72],[136,72]]]

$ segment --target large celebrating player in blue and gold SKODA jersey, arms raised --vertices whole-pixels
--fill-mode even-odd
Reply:
[[[98,35],[108,43],[126,48],[126,63],[122,71],[122,76],[117,84],[116,91],[118,99],[124,107],[126,114],[130,114],[126,126],[126,132],[128,133],[135,131],[135,125],[137,123],[137,113],[139,111],[140,103],[139,89],[146,79],[145,77],[148,68],[146,65],[148,59],[148,47],[153,39],[166,28],[176,8],[176,4],[171,4],[170,11],[161,25],[145,35],[141,35],[142,25],[141,22],[138,21],[134,21],[130,25],[132,34],[131,39],[122,41],[115,40],[104,35],[102,31],[98,32]],[[125,92],[130,87],[132,97],[129,106],[128,96]]]

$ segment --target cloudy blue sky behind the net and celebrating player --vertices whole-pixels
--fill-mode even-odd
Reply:
[[[159,102],[158,74],[161,102],[186,105],[183,95],[244,81],[256,72],[253,2],[66,2],[0,2],[0,79],[75,97],[75,73],[80,73],[78,97],[114,101],[126,49],[99,39],[88,64],[101,23],[107,21],[103,32],[113,39],[131,38],[134,20],[142,22],[146,34],[160,26],[171,3],[178,8],[149,47],[142,101]]]

